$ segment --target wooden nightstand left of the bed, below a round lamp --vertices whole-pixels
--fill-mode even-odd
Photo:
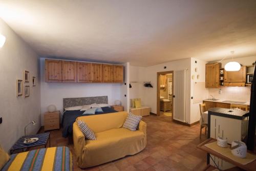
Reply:
[[[59,111],[45,113],[45,131],[59,129]]]

